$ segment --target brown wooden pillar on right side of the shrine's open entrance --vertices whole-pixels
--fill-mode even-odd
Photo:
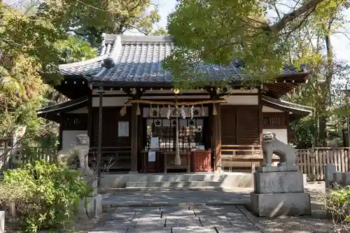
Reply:
[[[220,173],[222,171],[221,164],[221,105],[215,104],[217,114],[213,115],[213,143],[212,148],[214,149],[215,158],[215,171]],[[213,114],[212,112],[209,114]]]

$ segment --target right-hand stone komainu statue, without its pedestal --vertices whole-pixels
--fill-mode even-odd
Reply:
[[[276,139],[276,134],[272,132],[266,132],[262,135],[262,152],[264,153],[262,167],[272,166],[272,155],[277,155],[280,158],[279,167],[295,167],[295,149]]]

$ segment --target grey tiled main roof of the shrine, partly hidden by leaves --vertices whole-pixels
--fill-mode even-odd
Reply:
[[[162,69],[162,60],[174,48],[168,36],[120,36],[104,34],[99,55],[94,59],[59,66],[65,76],[85,76],[91,81],[118,83],[172,83],[172,73]],[[103,66],[104,60],[111,67]],[[230,66],[199,64],[199,73],[209,80],[241,80],[241,68],[234,62]],[[295,73],[285,69],[282,73]]]

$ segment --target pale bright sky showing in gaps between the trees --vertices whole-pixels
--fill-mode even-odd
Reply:
[[[176,0],[158,0],[160,3],[160,15],[162,19],[157,24],[158,27],[165,27],[167,25],[167,15],[175,8]],[[346,12],[346,18],[350,21],[350,10]],[[350,31],[349,25],[344,25]],[[344,31],[344,30],[342,30]],[[349,34],[350,38],[350,34]],[[350,61],[350,41],[342,34],[335,34],[332,36],[332,45],[337,59]]]

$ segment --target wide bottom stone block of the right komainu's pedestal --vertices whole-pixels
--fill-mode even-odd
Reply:
[[[256,216],[302,216],[311,214],[309,193],[251,192],[251,209]]]

